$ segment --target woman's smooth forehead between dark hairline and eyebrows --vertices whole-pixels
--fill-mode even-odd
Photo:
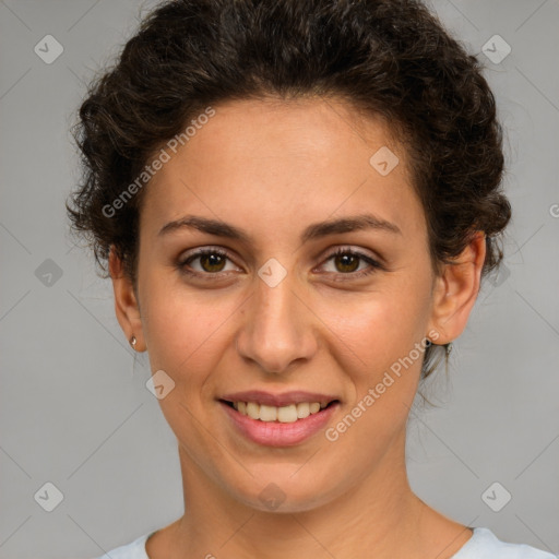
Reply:
[[[186,213],[238,215],[247,227],[271,226],[282,215],[293,224],[322,221],[366,206],[391,222],[420,211],[406,154],[380,117],[322,98],[235,100],[213,109],[150,181],[142,211],[148,227]],[[386,165],[390,173],[380,173]]]

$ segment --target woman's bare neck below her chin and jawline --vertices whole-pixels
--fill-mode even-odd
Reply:
[[[185,515],[175,523],[174,559],[418,557],[425,503],[409,487],[405,433],[378,467],[328,504],[297,512],[249,507],[202,472],[179,447]],[[157,559],[157,558],[154,558]]]

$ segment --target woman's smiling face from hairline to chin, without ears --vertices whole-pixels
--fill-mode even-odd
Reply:
[[[181,461],[261,510],[390,481],[426,336],[437,340],[406,154],[380,120],[333,100],[214,109],[176,154],[167,147],[140,219],[140,334],[152,371],[165,371],[159,404]],[[249,391],[260,393],[238,394]],[[285,407],[285,421],[224,400],[257,412],[275,402],[261,412]]]

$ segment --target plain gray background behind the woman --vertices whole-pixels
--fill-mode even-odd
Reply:
[[[79,177],[68,130],[84,81],[154,4],[0,2],[1,558],[95,557],[182,513],[146,356],[129,348],[110,282],[73,247],[63,207]],[[514,216],[506,267],[484,286],[448,379],[441,369],[426,389],[439,407],[413,413],[412,487],[456,521],[557,554],[559,2],[431,5],[487,67]],[[34,51],[48,34],[63,46],[50,64]],[[481,51],[496,34],[512,48],[500,63]],[[52,512],[34,498],[47,481],[63,493]],[[483,499],[495,481],[512,496],[499,512]]]

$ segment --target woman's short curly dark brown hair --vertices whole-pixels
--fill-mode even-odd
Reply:
[[[106,209],[153,154],[210,105],[267,96],[335,96],[384,117],[406,147],[433,269],[476,230],[483,275],[498,267],[511,206],[495,97],[479,61],[419,0],[171,0],[90,84],[73,130],[83,178],[67,210],[105,274],[114,247],[135,285],[145,189]]]

